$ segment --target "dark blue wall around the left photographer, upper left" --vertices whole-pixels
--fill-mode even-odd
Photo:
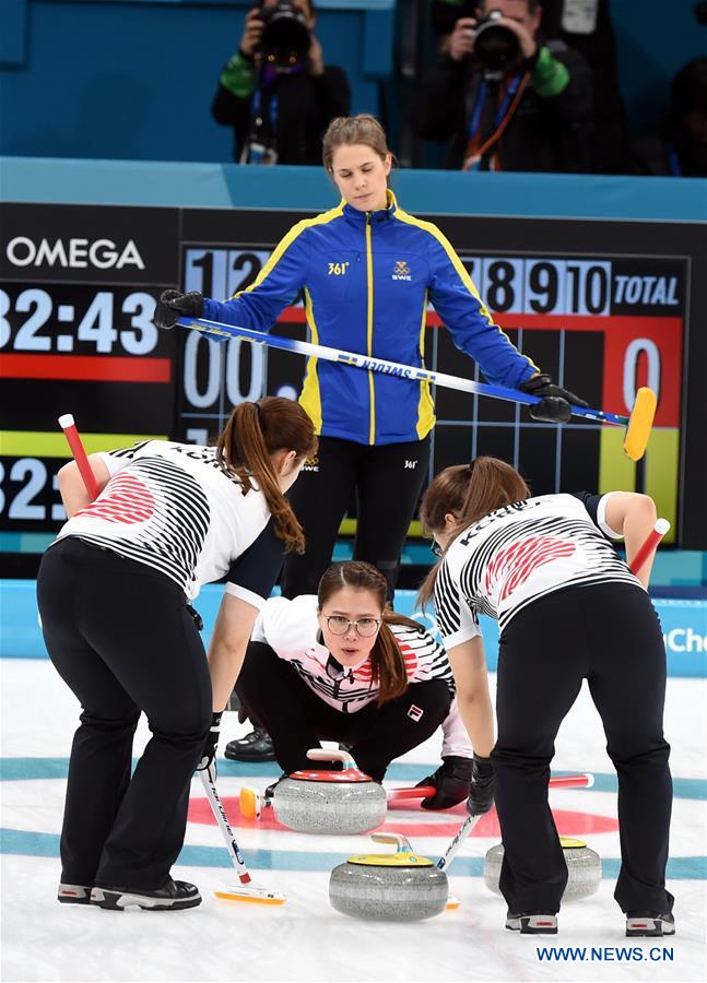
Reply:
[[[376,111],[377,83],[358,68],[362,5],[322,9],[317,34],[326,59],[351,73],[354,111]],[[229,161],[232,131],[213,121],[211,102],[244,13],[193,0],[28,0],[24,64],[0,67],[0,154]]]

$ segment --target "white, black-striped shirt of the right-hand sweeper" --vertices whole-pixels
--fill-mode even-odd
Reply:
[[[640,587],[610,538],[611,496],[542,495],[490,512],[466,529],[440,564],[435,585],[439,631],[448,648],[479,633],[479,614],[503,631],[539,597],[568,587]]]

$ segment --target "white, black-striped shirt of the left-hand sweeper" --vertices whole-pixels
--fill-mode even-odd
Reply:
[[[164,573],[193,600],[223,577],[226,592],[261,607],[282,565],[263,494],[216,461],[215,448],[163,440],[99,454],[110,479],[57,542],[78,536]]]

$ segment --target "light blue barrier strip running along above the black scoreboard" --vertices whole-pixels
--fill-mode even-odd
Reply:
[[[400,204],[426,214],[707,221],[695,178],[401,170]],[[3,201],[323,210],[339,194],[320,167],[0,156]]]

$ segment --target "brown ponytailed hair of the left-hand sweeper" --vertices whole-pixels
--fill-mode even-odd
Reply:
[[[317,451],[314,424],[294,400],[263,396],[255,403],[239,403],[228,417],[216,445],[216,460],[238,476],[244,495],[252,488],[251,478],[266,496],[275,535],[285,550],[304,553],[305,537],[292,506],[280,489],[271,455],[293,450],[301,458]]]

